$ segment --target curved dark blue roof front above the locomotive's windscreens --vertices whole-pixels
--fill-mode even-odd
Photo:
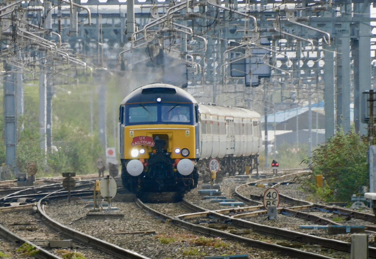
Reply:
[[[154,103],[158,97],[162,99],[161,102],[197,103],[196,99],[182,88],[165,83],[152,83],[133,90],[121,104]]]

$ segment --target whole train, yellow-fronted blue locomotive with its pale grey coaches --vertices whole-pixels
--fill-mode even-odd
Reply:
[[[246,108],[202,105],[173,85],[153,83],[120,105],[119,151],[124,188],[136,194],[197,187],[210,158],[224,169],[257,165],[260,115]]]

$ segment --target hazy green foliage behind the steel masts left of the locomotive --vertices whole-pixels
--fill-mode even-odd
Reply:
[[[27,75],[25,76],[27,77]],[[63,172],[80,174],[97,171],[95,161],[105,155],[104,147],[98,137],[98,97],[97,85],[92,75],[74,74],[56,76],[52,97],[52,148],[45,151],[40,148],[39,126],[39,80],[27,80],[24,84],[24,113],[18,115],[18,142],[16,166],[26,173],[27,162],[36,162],[37,177],[61,175]],[[31,78],[31,77],[30,77]],[[116,146],[114,134],[116,129],[117,104],[124,96],[116,91],[118,86],[111,79],[106,83],[109,96],[116,96],[117,100],[108,101],[108,145]],[[3,91],[0,91],[3,99]],[[94,101],[92,101],[94,100]],[[0,106],[0,139],[4,140],[3,106]],[[115,116],[116,115],[116,116]],[[115,118],[115,119],[114,119]],[[114,124],[114,125],[113,125]],[[0,165],[6,161],[6,146],[0,145]],[[14,176],[8,178],[14,179]]]

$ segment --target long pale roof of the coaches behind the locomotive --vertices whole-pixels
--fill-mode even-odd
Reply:
[[[261,118],[258,112],[242,107],[225,107],[199,104],[200,113],[240,118]]]

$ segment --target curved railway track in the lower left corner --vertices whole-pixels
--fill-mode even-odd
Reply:
[[[86,184],[83,184],[83,186],[86,186]],[[55,186],[51,186],[54,188]],[[43,187],[44,188],[44,187]],[[35,191],[35,189],[38,188],[30,188]],[[25,190],[22,190],[25,191]],[[28,190],[29,191],[29,190]],[[13,195],[8,195],[7,197],[3,197],[3,200],[8,199],[14,199],[19,198],[20,195],[17,195],[18,191],[14,193]],[[89,192],[87,190],[80,190],[80,191],[72,191],[72,196],[82,197],[82,196],[88,196],[92,194],[92,191]],[[30,197],[28,197],[28,195]],[[37,199],[37,203],[29,203],[24,205],[18,205],[18,206],[8,206],[8,207],[2,207],[0,208],[0,212],[5,215],[8,214],[8,217],[3,217],[2,226],[0,226],[0,236],[2,238],[9,240],[11,242],[16,241],[19,244],[27,243],[31,247],[39,250],[37,257],[38,258],[54,258],[54,259],[61,259],[58,254],[55,254],[51,252],[51,248],[46,248],[48,245],[45,244],[47,241],[52,239],[56,239],[56,237],[60,237],[61,239],[71,238],[74,240],[72,247],[74,247],[76,250],[84,250],[85,253],[89,253],[91,258],[108,258],[108,256],[111,256],[111,258],[127,258],[127,259],[150,259],[149,257],[143,256],[141,254],[137,254],[133,251],[126,250],[124,248],[118,247],[114,244],[111,244],[109,242],[100,240],[98,238],[95,238],[93,236],[86,235],[84,233],[80,233],[78,231],[75,231],[73,229],[70,229],[61,223],[53,220],[45,213],[45,201],[51,201],[54,199],[61,199],[61,198],[67,198],[68,193],[67,191],[64,191],[63,189],[50,192],[48,194],[42,193],[42,194],[24,194],[21,195],[22,198],[25,198],[26,200],[34,200]],[[35,220],[35,217],[33,215],[30,215],[30,210],[33,210],[34,212],[38,212],[39,217],[42,218],[42,220]],[[34,222],[34,224],[29,225],[27,227],[18,227],[20,225],[25,225],[25,221],[23,223],[14,222],[14,218],[28,218],[26,220],[27,222]],[[8,221],[5,221],[5,220]],[[11,229],[7,229],[4,227],[4,225],[12,226]],[[49,226],[47,228],[46,226]],[[31,233],[31,231],[33,233]],[[18,233],[17,233],[18,232]],[[30,235],[31,233],[31,235]],[[38,237],[38,240],[35,240],[36,236]],[[34,240],[32,240],[34,239]],[[39,243],[39,244],[38,244]],[[44,243],[43,245],[40,245],[40,243]],[[95,247],[95,249],[93,249]],[[90,252],[89,252],[90,250]],[[103,252],[105,252],[105,255],[103,255]]]

